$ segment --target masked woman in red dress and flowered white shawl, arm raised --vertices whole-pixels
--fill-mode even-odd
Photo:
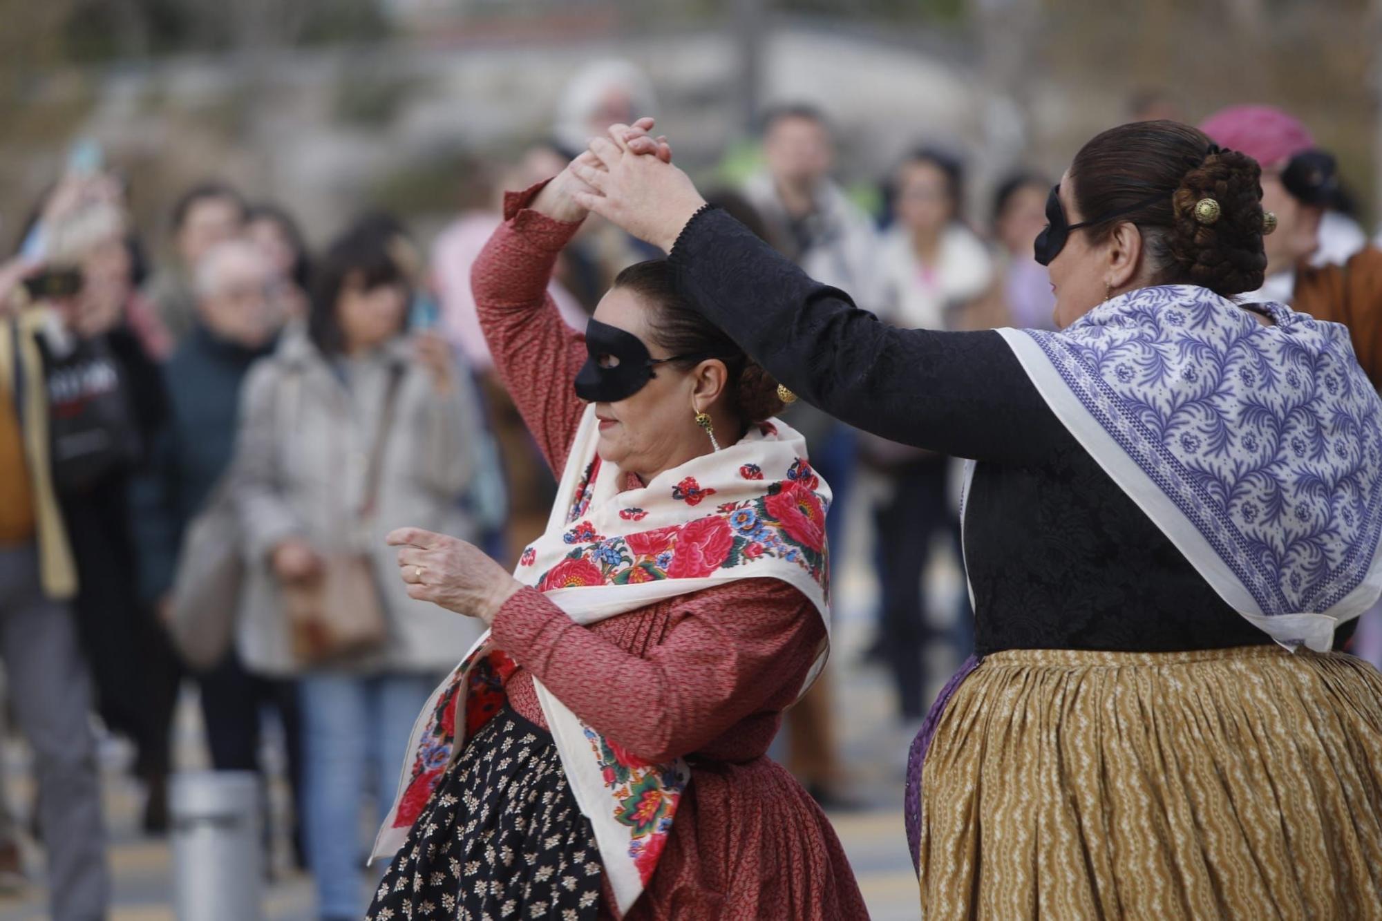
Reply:
[[[568,169],[510,194],[471,277],[564,470],[547,531],[513,577],[455,538],[390,538],[413,597],[491,632],[417,723],[370,918],[864,918],[821,809],[766,756],[829,647],[829,487],[666,260],[565,326],[546,292],[582,189]]]

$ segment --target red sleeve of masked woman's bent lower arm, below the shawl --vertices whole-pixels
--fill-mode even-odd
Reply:
[[[688,595],[676,617],[643,658],[524,589],[499,610],[493,636],[583,722],[651,762],[698,751],[795,693],[825,640],[811,603],[775,579]]]

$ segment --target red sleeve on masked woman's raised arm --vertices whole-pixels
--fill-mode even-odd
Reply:
[[[571,382],[586,361],[586,346],[562,322],[547,282],[580,224],[528,207],[543,185],[504,195],[504,223],[471,267],[470,285],[499,379],[560,477],[585,411]]]

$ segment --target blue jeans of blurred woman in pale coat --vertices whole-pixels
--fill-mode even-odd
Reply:
[[[408,736],[437,682],[416,675],[303,678],[303,828],[318,914],[359,918],[361,797],[373,791],[379,821],[394,805]]]

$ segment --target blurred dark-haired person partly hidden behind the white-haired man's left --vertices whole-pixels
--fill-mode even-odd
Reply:
[[[144,285],[144,295],[176,340],[191,332],[196,317],[198,263],[217,243],[239,236],[245,218],[245,199],[218,181],[193,185],[173,205],[173,257]]]

